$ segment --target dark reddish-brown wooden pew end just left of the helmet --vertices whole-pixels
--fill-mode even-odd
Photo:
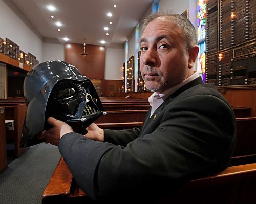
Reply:
[[[14,156],[18,157],[27,148],[19,148],[27,107],[25,103],[5,105],[5,120],[14,120],[14,130],[6,130],[6,138],[14,140]]]

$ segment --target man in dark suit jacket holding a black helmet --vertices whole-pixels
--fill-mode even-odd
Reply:
[[[172,193],[230,162],[235,117],[228,102],[193,70],[195,28],[180,15],[160,13],[145,26],[140,69],[154,94],[142,128],[103,130],[91,124],[84,137],[49,118],[54,128],[43,133],[46,142],[59,146],[79,187],[94,200],[161,197],[160,192]]]

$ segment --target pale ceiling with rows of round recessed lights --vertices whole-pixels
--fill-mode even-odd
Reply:
[[[104,46],[123,44],[153,0],[4,0],[43,40]],[[47,9],[56,7],[55,11]],[[117,7],[114,8],[114,5]],[[106,14],[112,13],[112,17]],[[51,15],[54,18],[51,18]],[[62,26],[57,27],[56,22]],[[109,24],[112,21],[112,24]],[[108,31],[104,27],[109,27]],[[58,31],[57,29],[60,29]],[[106,35],[109,33],[109,35]],[[63,40],[69,38],[68,41]],[[84,38],[86,40],[84,40]],[[102,45],[102,44],[101,44]]]

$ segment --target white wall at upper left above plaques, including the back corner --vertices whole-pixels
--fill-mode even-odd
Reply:
[[[11,2],[7,5],[3,0],[0,0],[0,37],[12,40],[20,50],[33,54],[39,63],[64,60],[63,44],[43,40],[16,7]]]

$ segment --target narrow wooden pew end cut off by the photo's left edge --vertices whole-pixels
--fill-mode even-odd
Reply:
[[[0,107],[0,172],[7,167],[5,107]]]

